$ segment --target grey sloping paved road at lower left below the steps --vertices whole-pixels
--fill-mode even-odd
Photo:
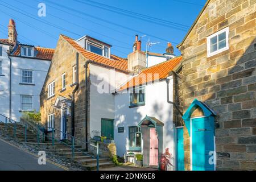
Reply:
[[[64,171],[55,164],[39,165],[38,158],[0,139],[0,171]]]

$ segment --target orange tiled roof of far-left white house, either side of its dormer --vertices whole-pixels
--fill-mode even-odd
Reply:
[[[54,49],[52,48],[44,48],[44,47],[35,47],[35,58],[38,59],[46,59],[46,60],[52,60],[52,56],[54,54]],[[20,56],[20,45],[18,48],[15,49],[15,51],[12,53],[14,56]]]

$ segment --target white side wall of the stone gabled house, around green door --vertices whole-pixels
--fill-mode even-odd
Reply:
[[[129,80],[129,75],[116,72],[114,69],[89,65],[90,69],[90,134],[93,130],[101,131],[101,118],[114,119],[114,95],[110,93],[116,86]],[[104,78],[102,80],[102,78]],[[110,81],[111,80],[111,81]],[[105,84],[105,92],[103,89]]]

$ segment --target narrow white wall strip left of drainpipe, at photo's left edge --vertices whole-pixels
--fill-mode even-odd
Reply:
[[[10,61],[7,55],[7,51],[9,50],[9,46],[5,44],[0,44],[3,47],[3,56],[0,56],[0,60],[2,61],[2,74],[4,76],[0,76],[0,114],[6,115],[9,117],[9,69],[10,69]],[[0,116],[0,120],[3,121],[5,118]]]

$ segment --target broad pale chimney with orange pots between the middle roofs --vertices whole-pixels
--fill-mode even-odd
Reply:
[[[146,55],[141,51],[141,40],[138,40],[138,35],[135,35],[133,52],[128,55],[128,70],[138,73],[143,68],[146,68]]]

